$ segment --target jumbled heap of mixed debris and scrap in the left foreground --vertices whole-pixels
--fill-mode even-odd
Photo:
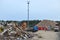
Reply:
[[[25,26],[25,25],[22,25]],[[31,40],[34,34],[22,30],[16,24],[8,24],[7,27],[0,27],[0,40]]]

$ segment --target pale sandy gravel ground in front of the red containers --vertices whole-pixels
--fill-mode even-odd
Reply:
[[[32,40],[60,40],[60,32],[53,32],[53,31],[38,31],[35,34],[37,36],[33,37]],[[42,36],[42,38],[40,37]]]

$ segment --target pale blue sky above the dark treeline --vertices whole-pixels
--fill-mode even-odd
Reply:
[[[0,0],[0,20],[27,20],[27,0]],[[59,20],[60,0],[30,0],[29,20]]]

